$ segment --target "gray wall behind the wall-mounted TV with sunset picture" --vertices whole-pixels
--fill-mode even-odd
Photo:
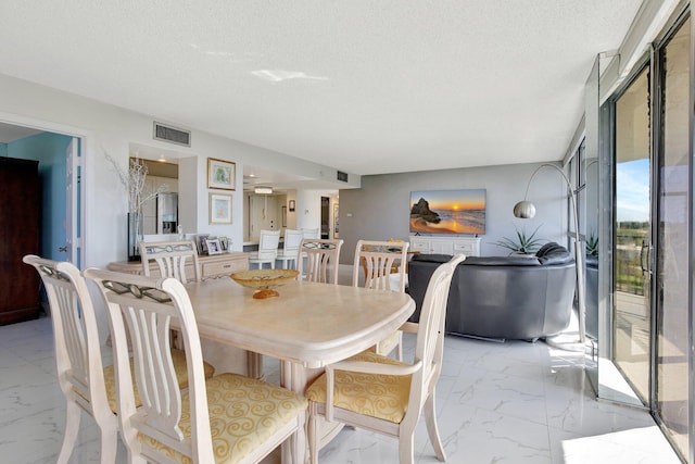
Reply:
[[[460,170],[362,176],[362,188],[340,190],[340,238],[345,242],[341,263],[352,264],[359,239],[387,240],[409,237],[410,191],[486,190],[485,235],[481,236],[483,256],[506,255],[495,246],[503,237],[516,237],[515,226],[527,233],[541,226],[536,237],[567,247],[566,184],[560,174],[544,167],[533,177],[528,200],[536,208],[532,220],[514,217],[514,205],[523,199],[531,175],[541,163],[483,166]],[[559,166],[559,164],[558,164]]]

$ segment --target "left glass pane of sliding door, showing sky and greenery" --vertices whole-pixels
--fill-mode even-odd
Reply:
[[[652,162],[649,71],[616,101],[614,363],[644,404],[649,402]]]

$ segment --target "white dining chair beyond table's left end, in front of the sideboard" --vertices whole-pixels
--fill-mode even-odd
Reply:
[[[200,261],[198,248],[192,240],[181,241],[141,241],[140,256],[142,260],[142,275],[150,276],[150,261],[156,263],[161,277],[174,277],[186,284],[188,280],[200,280]],[[186,273],[186,267],[192,268],[192,276]]]

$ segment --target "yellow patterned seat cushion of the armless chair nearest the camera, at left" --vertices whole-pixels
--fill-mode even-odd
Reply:
[[[237,463],[273,434],[306,410],[307,401],[293,391],[238,374],[220,374],[206,383],[210,427],[215,462]],[[178,423],[186,439],[191,437],[188,392],[181,397]],[[142,434],[139,440],[180,463],[190,457]]]

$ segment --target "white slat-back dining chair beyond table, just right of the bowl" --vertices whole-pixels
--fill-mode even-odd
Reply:
[[[321,284],[338,285],[338,269],[342,239],[302,239],[300,253],[304,259],[298,262],[299,278]],[[306,261],[306,266],[304,265]]]

